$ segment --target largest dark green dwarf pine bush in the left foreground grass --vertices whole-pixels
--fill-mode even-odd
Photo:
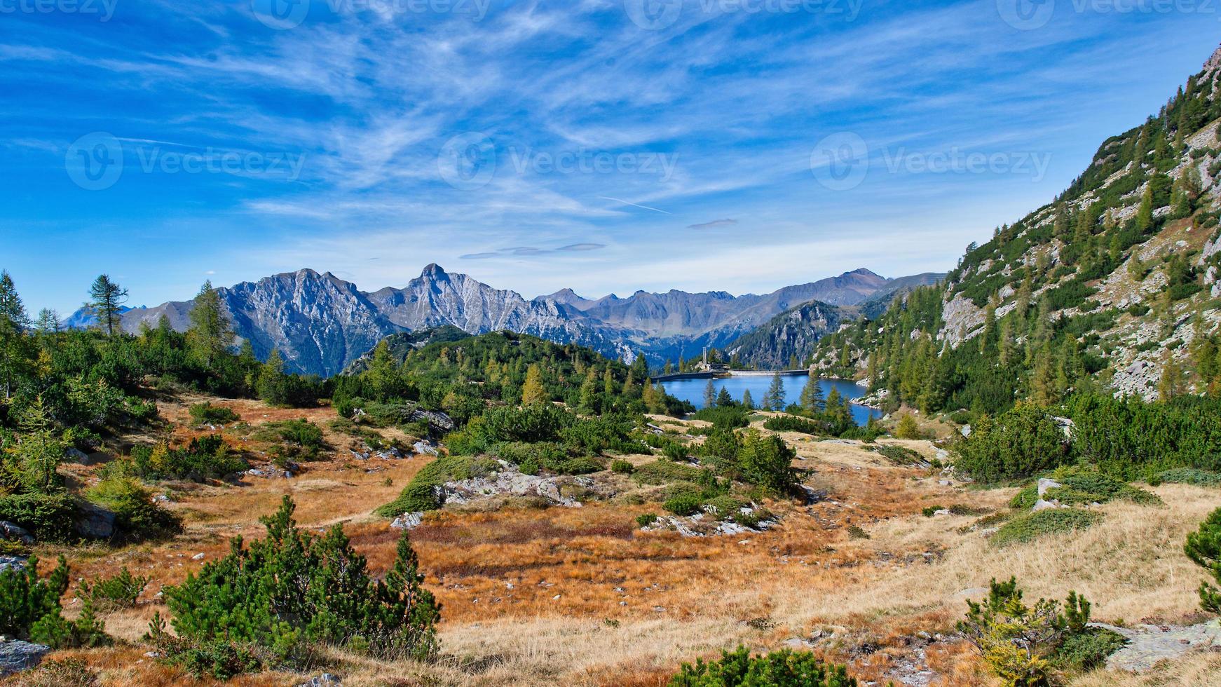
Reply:
[[[440,604],[421,586],[407,532],[385,578],[372,577],[339,525],[320,537],[297,527],[294,504],[264,517],[267,537],[165,588],[177,636],[154,616],[148,639],[167,660],[230,676],[256,665],[302,666],[316,644],[377,659],[436,655]],[[294,583],[284,583],[287,580]]]

